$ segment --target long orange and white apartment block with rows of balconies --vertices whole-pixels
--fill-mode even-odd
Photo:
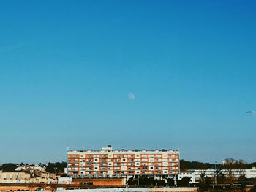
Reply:
[[[178,175],[178,150],[68,150],[67,174],[72,177]]]

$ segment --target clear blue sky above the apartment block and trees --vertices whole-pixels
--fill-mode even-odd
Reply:
[[[255,1],[1,1],[0,164],[66,148],[256,161]],[[133,93],[135,99],[129,98]]]

